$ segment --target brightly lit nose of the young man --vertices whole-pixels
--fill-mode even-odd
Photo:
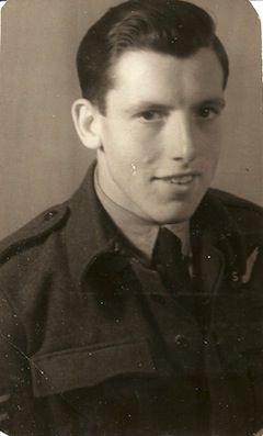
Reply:
[[[165,130],[165,152],[169,158],[185,164],[195,159],[195,128],[187,114],[176,112],[169,120]]]

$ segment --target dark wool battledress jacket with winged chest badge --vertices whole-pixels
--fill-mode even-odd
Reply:
[[[72,198],[0,247],[0,429],[252,436],[263,428],[263,214],[209,190],[191,222],[196,314],[99,202]]]

